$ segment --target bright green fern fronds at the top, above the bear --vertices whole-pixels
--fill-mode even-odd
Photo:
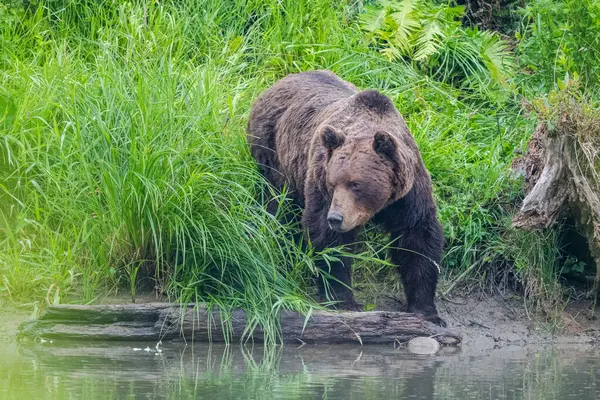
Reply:
[[[463,27],[464,7],[427,0],[382,0],[368,8],[361,27],[390,60],[405,59],[442,82],[488,91],[513,68],[506,42]]]

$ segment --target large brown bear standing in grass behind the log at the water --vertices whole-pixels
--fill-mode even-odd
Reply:
[[[417,145],[391,100],[359,91],[329,71],[291,74],[254,103],[248,142],[262,174],[287,186],[302,207],[315,250],[352,244],[367,222],[394,238],[407,311],[445,326],[434,304],[444,246],[431,179]],[[326,266],[322,265],[326,270]],[[329,264],[321,298],[357,309],[350,259]]]

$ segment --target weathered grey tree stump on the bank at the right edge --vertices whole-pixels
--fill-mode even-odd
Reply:
[[[587,240],[596,264],[590,294],[600,286],[600,112],[563,95],[542,116],[527,153],[516,160],[527,194],[513,226],[529,231],[549,228],[565,217]]]

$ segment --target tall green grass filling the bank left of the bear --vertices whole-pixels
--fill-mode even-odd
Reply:
[[[145,276],[255,315],[306,308],[287,275],[311,261],[260,204],[244,139],[262,84],[247,40],[217,34],[225,10],[195,25],[186,7],[104,6],[40,6],[3,32],[2,293],[89,302]]]

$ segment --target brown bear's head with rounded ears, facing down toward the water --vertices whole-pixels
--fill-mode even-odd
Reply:
[[[373,97],[384,101],[382,95]],[[321,127],[327,159],[325,185],[331,200],[327,222],[332,230],[348,232],[364,225],[412,189],[416,162],[412,137],[407,129],[386,130],[385,126],[353,125],[348,134],[329,124]]]

